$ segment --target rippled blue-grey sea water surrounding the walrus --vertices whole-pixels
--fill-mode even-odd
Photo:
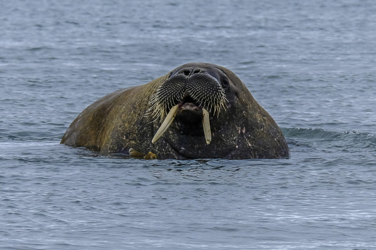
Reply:
[[[376,249],[376,5],[2,1],[0,249]],[[183,63],[235,72],[291,159],[60,145],[99,97]]]

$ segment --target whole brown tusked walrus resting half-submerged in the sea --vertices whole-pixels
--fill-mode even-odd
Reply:
[[[246,85],[210,63],[183,64],[102,97],[78,115],[61,143],[157,159],[290,157],[281,130]]]

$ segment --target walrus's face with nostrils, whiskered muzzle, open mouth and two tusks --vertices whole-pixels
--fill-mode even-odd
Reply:
[[[150,98],[147,114],[160,121],[165,116],[152,139],[153,143],[166,132],[175,117],[182,125],[180,129],[185,132],[191,130],[194,124],[202,123],[206,144],[211,142],[209,114],[218,118],[220,112],[226,109],[228,100],[225,91],[229,80],[212,66],[192,66],[183,65],[170,72],[168,79]]]

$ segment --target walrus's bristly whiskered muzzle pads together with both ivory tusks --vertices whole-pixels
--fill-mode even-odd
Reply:
[[[155,120],[161,119],[166,114],[162,125],[152,139],[156,142],[173,123],[177,112],[184,103],[194,103],[202,109],[202,124],[206,144],[211,141],[209,112],[219,115],[227,102],[220,82],[207,73],[196,73],[191,76],[177,74],[167,79],[157,88],[150,98],[150,108],[146,115],[153,116]],[[184,107],[183,107],[184,108]],[[189,109],[189,107],[186,107]],[[167,113],[167,111],[169,112]]]

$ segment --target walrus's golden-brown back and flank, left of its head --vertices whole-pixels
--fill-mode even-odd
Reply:
[[[119,150],[118,138],[132,135],[122,142],[125,150],[128,144],[137,141],[134,136],[139,132],[140,120],[150,123],[151,117],[144,117],[149,97],[163,79],[160,77],[148,84],[123,88],[100,98],[77,116],[60,143],[110,154]]]

